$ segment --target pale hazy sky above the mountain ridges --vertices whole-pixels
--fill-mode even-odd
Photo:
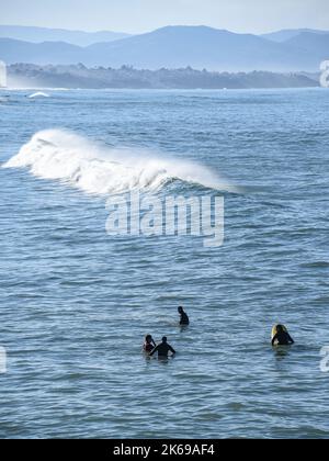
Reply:
[[[0,0],[0,24],[129,33],[169,24],[329,30],[329,0]]]

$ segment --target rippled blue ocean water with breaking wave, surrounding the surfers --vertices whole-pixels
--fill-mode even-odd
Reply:
[[[30,93],[0,92],[0,436],[328,438],[328,90]],[[106,235],[129,189],[223,195],[224,245]]]

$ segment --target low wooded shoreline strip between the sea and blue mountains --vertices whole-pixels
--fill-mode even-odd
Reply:
[[[81,89],[248,89],[318,87],[317,75],[306,72],[276,74],[270,71],[219,72],[191,67],[159,70],[122,66],[87,68],[78,65],[14,64],[8,67],[13,86],[33,88]]]

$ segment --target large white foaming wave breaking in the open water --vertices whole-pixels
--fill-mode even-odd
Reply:
[[[3,168],[29,168],[39,178],[69,182],[88,193],[156,191],[172,180],[238,192],[211,169],[137,149],[115,149],[63,130],[36,133]]]

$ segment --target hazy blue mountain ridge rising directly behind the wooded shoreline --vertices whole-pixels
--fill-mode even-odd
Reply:
[[[3,33],[0,27],[0,36]],[[64,38],[66,31],[56,33]],[[39,34],[47,36],[49,32],[43,35],[39,30]],[[257,36],[206,26],[167,26],[88,46],[78,46],[72,41],[32,43],[2,37],[0,59],[8,64],[82,63],[106,68],[129,65],[146,69],[191,66],[217,71],[317,71],[320,63],[329,59],[329,32],[297,30]]]

